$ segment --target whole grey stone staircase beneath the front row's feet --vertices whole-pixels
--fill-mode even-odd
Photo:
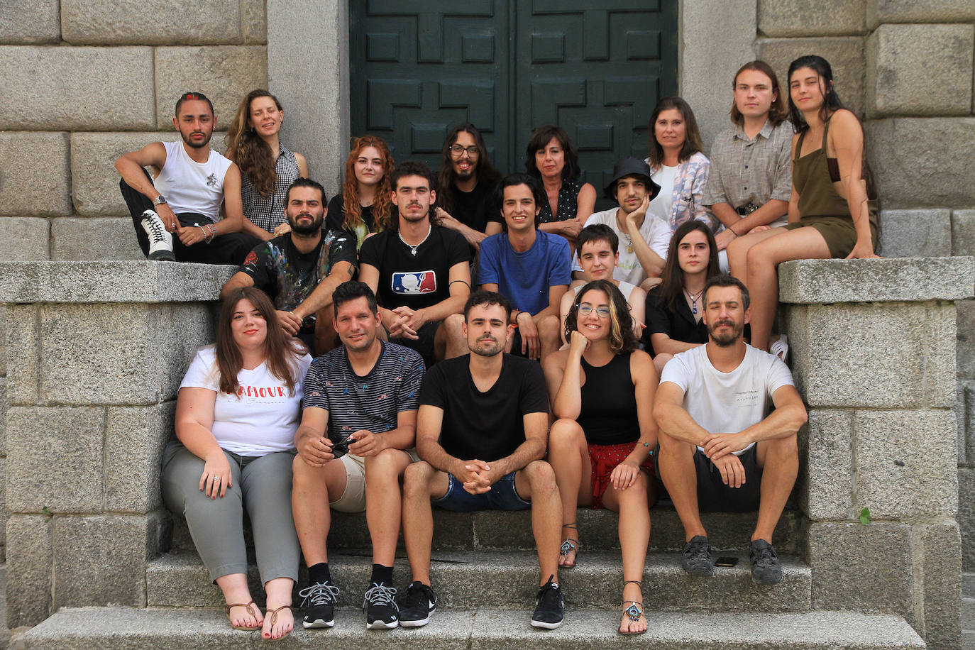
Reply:
[[[665,504],[652,511],[652,533],[643,574],[644,602],[650,625],[642,636],[625,639],[616,632],[622,568],[616,515],[579,511],[583,547],[579,565],[565,570],[565,624],[557,631],[537,631],[529,624],[537,589],[538,566],[528,513],[485,512],[473,515],[435,511],[431,577],[440,595],[437,613],[426,628],[367,631],[362,593],[370,574],[370,545],[365,516],[335,513],[330,564],[342,590],[335,628],[300,628],[281,647],[602,647],[606,643],[653,644],[662,648],[918,648],[925,647],[903,618],[857,612],[815,611],[811,569],[800,557],[801,517],[783,516],[776,531],[784,579],[775,587],[751,580],[747,542],[754,515],[705,516],[711,540],[738,564],[718,568],[713,578],[683,573],[678,551],[683,529]],[[301,586],[303,586],[302,567]],[[396,584],[409,582],[409,564],[397,554]],[[254,595],[261,593],[255,567]],[[297,589],[297,588],[296,588]],[[169,553],[146,569],[147,607],[61,609],[24,634],[24,648],[68,650],[98,647],[223,648],[263,647],[258,634],[234,631],[222,614],[222,598],[193,550],[185,525],[176,522]],[[260,597],[256,598],[260,603]],[[295,603],[298,602],[294,594]]]

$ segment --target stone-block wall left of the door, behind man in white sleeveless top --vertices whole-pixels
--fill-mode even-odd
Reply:
[[[187,91],[225,129],[267,87],[266,31],[263,0],[5,0],[0,260],[140,259],[115,159],[176,139]]]

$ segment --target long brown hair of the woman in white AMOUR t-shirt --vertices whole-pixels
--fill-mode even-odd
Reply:
[[[237,387],[237,375],[244,367],[240,348],[234,341],[234,333],[230,328],[237,303],[250,300],[254,309],[263,317],[267,338],[264,339],[264,363],[271,374],[285,382],[289,395],[294,394],[297,383],[297,357],[304,354],[304,346],[296,338],[285,335],[285,331],[278,322],[278,313],[267,294],[256,287],[241,287],[223,299],[220,303],[220,317],[216,323],[216,367],[220,372],[220,392],[234,395]]]

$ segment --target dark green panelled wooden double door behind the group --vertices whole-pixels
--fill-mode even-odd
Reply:
[[[514,172],[531,131],[554,123],[599,189],[616,160],[645,154],[654,104],[677,92],[677,0],[368,0],[350,21],[352,134],[434,171],[455,124],[475,124]]]

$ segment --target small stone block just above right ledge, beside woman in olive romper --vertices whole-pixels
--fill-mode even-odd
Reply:
[[[952,254],[951,210],[881,210],[879,221],[884,257]]]

